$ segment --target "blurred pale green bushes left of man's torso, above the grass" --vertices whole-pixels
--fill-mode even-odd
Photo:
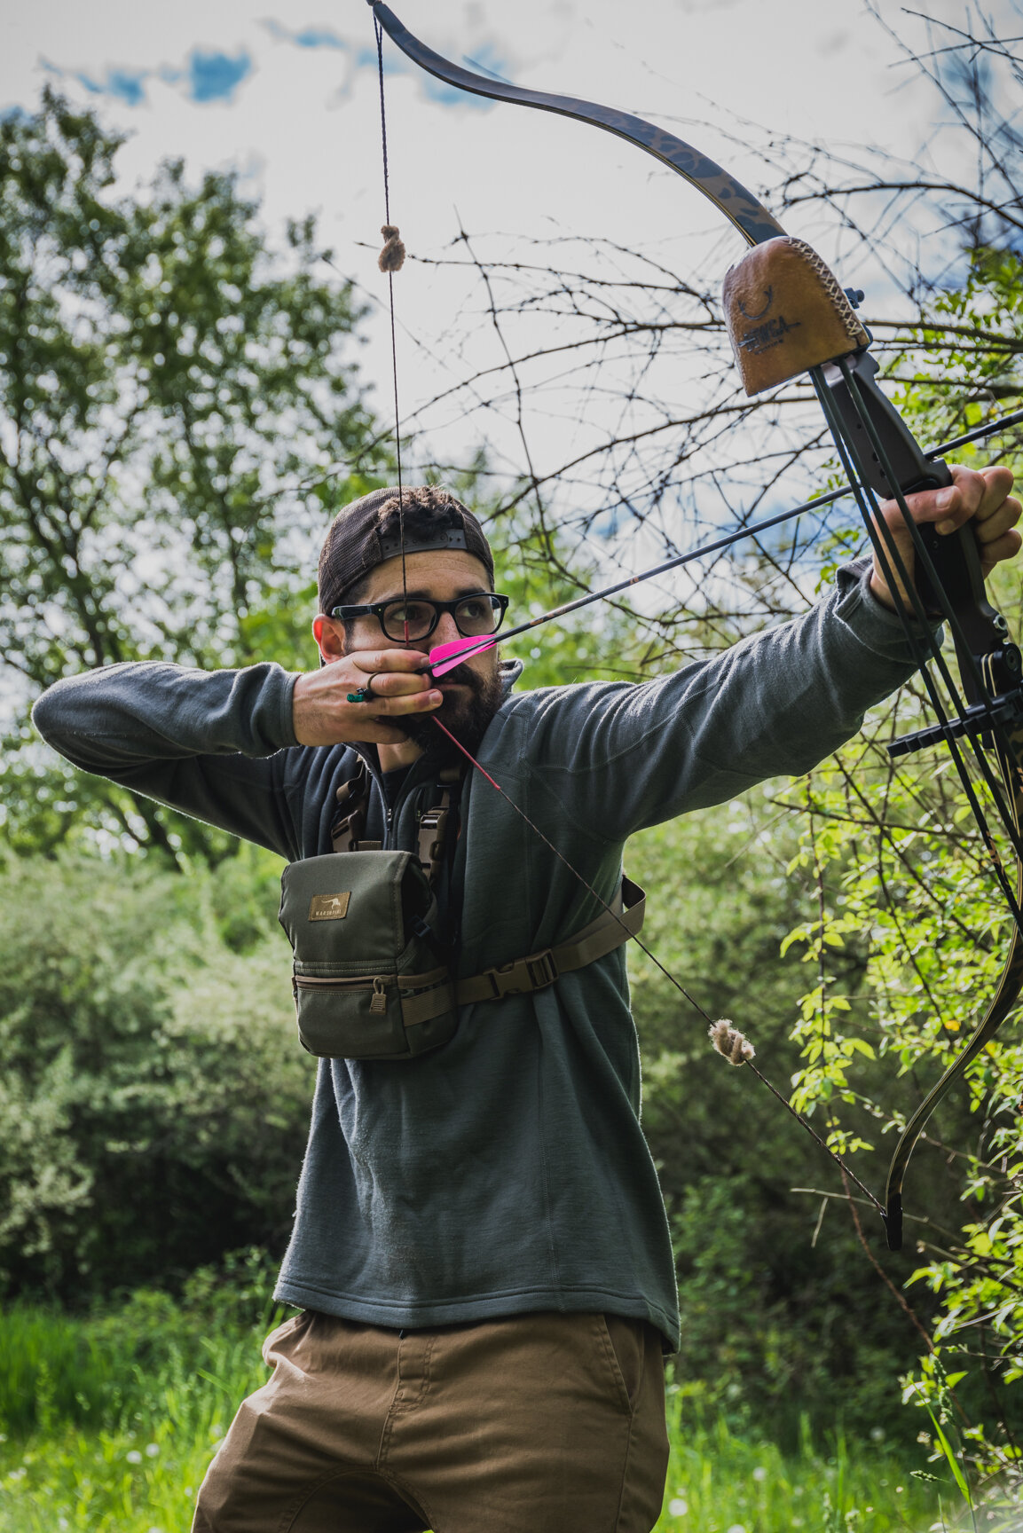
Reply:
[[[74,857],[0,877],[14,1288],[75,1297],[183,1279],[239,1240],[282,1243],[313,1064],[268,862],[252,857],[244,894],[238,877]]]

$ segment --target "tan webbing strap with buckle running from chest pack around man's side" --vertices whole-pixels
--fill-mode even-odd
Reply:
[[[633,883],[632,878],[623,878],[617,904],[620,906],[617,915],[606,911],[589,926],[569,937],[567,941],[529,954],[526,958],[512,958],[511,963],[485,969],[483,973],[475,973],[471,980],[459,980],[456,984],[445,980],[437,984],[434,980],[437,970],[433,970],[431,975],[400,975],[405,1023],[425,1023],[428,1018],[449,1010],[452,1004],[469,1006],[474,1001],[500,1001],[506,995],[529,995],[534,990],[546,990],[558,975],[584,969],[586,964],[595,963],[597,958],[613,952],[615,947],[621,947],[643,929],[646,894],[638,883]],[[406,995],[408,990],[417,993]]]

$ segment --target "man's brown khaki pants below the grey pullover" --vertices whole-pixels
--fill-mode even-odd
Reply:
[[[305,1311],[267,1337],[192,1533],[649,1533],[667,1470],[661,1338],[512,1315],[385,1331]]]

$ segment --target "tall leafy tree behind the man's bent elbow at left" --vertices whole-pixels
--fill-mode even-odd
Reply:
[[[181,164],[126,198],[121,143],[51,92],[0,123],[6,834],[54,846],[87,805],[121,843],[216,857],[193,822],[41,766],[26,705],[94,665],[264,658],[267,627],[314,610],[327,517],[388,455],[313,221],[273,254],[232,176],[190,187]]]

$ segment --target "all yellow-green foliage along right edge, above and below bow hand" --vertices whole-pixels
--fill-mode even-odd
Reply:
[[[885,369],[920,440],[954,435],[1005,409],[1000,402],[1018,402],[1020,256],[979,245],[966,259],[965,279],[899,330]],[[992,438],[954,457],[1015,468],[1009,443]],[[991,587],[1018,639],[1018,573],[1003,567]],[[816,904],[785,943],[808,969],[793,1029],[802,1055],[793,1102],[833,1148],[863,1157],[857,1171],[879,1193],[897,1131],[980,1021],[1012,935],[992,852],[946,753],[936,748],[899,771],[885,756],[882,742],[931,719],[914,682],[877,711],[865,740],[811,776],[790,865],[810,880]],[[997,828],[991,794],[982,782],[977,791]],[[1008,869],[1015,862],[997,829],[994,855]],[[995,1476],[1011,1495],[1023,1485],[1021,1130],[1023,1050],[1009,1018],[914,1153],[905,1202],[916,1271],[885,1259],[896,1282],[916,1285],[914,1303],[923,1294],[934,1308],[934,1351],[903,1380],[903,1400],[929,1416],[923,1436],[934,1461],[957,1481],[966,1470],[980,1482]]]

